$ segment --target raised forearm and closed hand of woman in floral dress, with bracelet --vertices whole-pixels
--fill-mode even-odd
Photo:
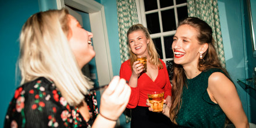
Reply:
[[[108,88],[102,94],[100,113],[92,127],[115,127],[116,120],[125,111],[130,93],[130,87],[126,84],[125,79],[120,79],[118,76],[113,77]]]

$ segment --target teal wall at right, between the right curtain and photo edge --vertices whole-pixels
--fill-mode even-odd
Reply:
[[[218,0],[219,17],[226,59],[226,69],[236,85],[244,111],[251,122],[250,95],[237,84],[237,79],[251,78],[256,59],[250,42],[246,1]],[[251,102],[255,104],[255,102]],[[255,122],[254,122],[255,123]]]

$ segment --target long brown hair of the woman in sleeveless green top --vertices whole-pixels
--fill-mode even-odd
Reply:
[[[203,20],[197,17],[188,17],[187,19],[180,22],[179,26],[187,24],[191,27],[197,29],[197,40],[200,44],[208,43],[208,49],[202,55],[202,59],[199,59],[198,70],[204,72],[211,68],[221,69],[227,76],[228,73],[226,69],[221,66],[218,58],[218,54],[215,50],[214,44],[215,40],[212,37],[212,28]],[[186,74],[184,72],[182,65],[173,65],[173,78],[172,78],[172,106],[170,107],[170,119],[173,123],[176,123],[176,116],[179,112],[180,106],[182,104],[182,91],[183,87],[186,85]],[[176,123],[177,124],[177,123]]]

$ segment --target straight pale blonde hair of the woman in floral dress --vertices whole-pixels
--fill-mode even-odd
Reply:
[[[38,12],[29,17],[20,34],[21,84],[46,77],[70,105],[79,105],[93,87],[83,75],[70,49],[69,12],[66,9]]]

